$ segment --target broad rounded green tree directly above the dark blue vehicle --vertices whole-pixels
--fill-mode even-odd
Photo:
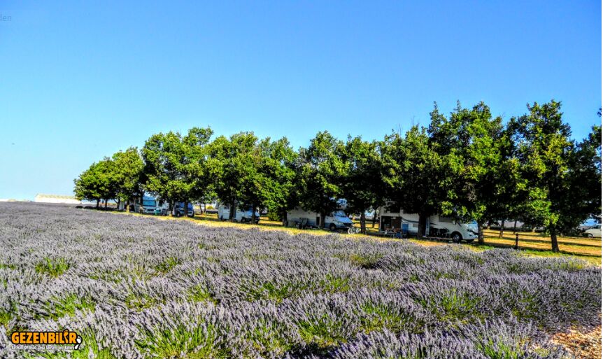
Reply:
[[[154,134],[142,150],[146,190],[172,206],[202,197],[209,190],[206,145],[213,131],[194,127],[185,136],[179,132]]]

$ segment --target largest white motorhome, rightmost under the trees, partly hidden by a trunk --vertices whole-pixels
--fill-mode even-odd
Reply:
[[[404,211],[392,211],[387,206],[379,209],[379,230],[385,232],[407,232],[409,235],[417,235],[419,229],[418,213],[404,213]],[[439,215],[429,216],[425,223],[425,235],[429,237],[451,238],[454,242],[467,241],[471,243],[477,238],[477,227],[475,223],[460,223],[454,218]]]

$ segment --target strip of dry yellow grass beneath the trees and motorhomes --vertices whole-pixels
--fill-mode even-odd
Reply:
[[[135,213],[131,213],[134,216],[145,216]],[[227,221],[219,220],[218,216],[212,213],[203,214],[201,216],[195,216],[194,218],[172,218],[169,216],[157,216],[158,219],[162,220],[191,220],[195,223],[202,223],[204,225],[220,226],[220,227],[257,227],[260,230],[281,230],[289,232],[291,234],[307,233],[311,232],[316,235],[330,234],[328,230],[298,230],[297,228],[283,227],[281,222],[271,221],[268,218],[260,218],[258,225],[241,224],[241,223],[229,223]],[[360,224],[355,223],[360,226]],[[367,232],[369,235],[374,236],[378,240],[392,240],[385,237],[378,236],[378,224],[375,227],[371,227],[371,223],[367,223]],[[573,256],[586,260],[593,265],[601,266],[601,239],[589,239],[586,237],[558,237],[560,253],[553,253],[551,248],[551,239],[544,237],[539,233],[533,232],[518,232],[519,233],[519,248],[523,250],[526,255],[534,255],[538,257],[565,257]],[[515,234],[512,231],[506,231],[502,238],[499,238],[499,231],[497,230],[485,230],[485,244],[480,246],[478,244],[470,244],[469,248],[475,251],[483,251],[490,248],[511,248],[515,246]],[[346,237],[360,237],[362,234],[343,234]],[[394,239],[395,240],[395,239]],[[423,246],[439,246],[446,244],[445,241],[430,241],[425,239],[410,239],[414,243],[421,244]]]

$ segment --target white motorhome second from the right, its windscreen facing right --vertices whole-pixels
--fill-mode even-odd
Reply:
[[[352,227],[352,220],[346,214],[347,202],[345,199],[337,201],[339,209],[328,213],[325,216],[325,223],[320,224],[320,213],[306,211],[300,207],[295,207],[287,212],[287,227],[296,227],[302,224],[304,227],[328,228],[329,230],[348,230]]]

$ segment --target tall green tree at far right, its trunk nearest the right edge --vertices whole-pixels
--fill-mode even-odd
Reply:
[[[557,252],[558,234],[600,213],[600,127],[576,144],[563,122],[560,102],[527,108],[529,113],[511,119],[521,171],[527,179],[524,218],[531,225],[546,227],[552,250]]]

